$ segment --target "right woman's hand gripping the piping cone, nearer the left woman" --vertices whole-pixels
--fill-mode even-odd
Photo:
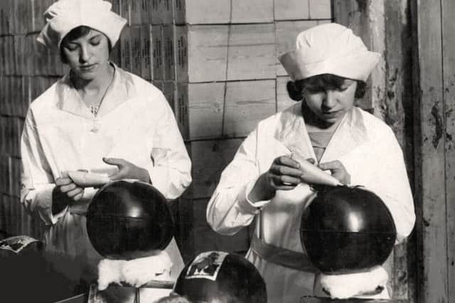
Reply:
[[[269,200],[277,190],[291,190],[301,182],[299,162],[287,155],[276,158],[252,188],[248,199],[252,202]]]

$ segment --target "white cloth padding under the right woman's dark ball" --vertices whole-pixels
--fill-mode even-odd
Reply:
[[[378,287],[385,287],[389,275],[382,266],[375,266],[367,272],[355,272],[343,275],[319,274],[319,283],[332,299],[348,299],[375,292]]]

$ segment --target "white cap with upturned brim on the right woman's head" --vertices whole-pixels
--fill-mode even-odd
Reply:
[[[315,26],[297,35],[296,50],[279,57],[292,81],[333,74],[365,81],[380,59],[353,31],[337,23]]]

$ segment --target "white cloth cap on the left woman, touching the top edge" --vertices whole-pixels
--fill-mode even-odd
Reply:
[[[114,47],[127,20],[112,12],[111,7],[102,0],[59,0],[45,11],[46,24],[36,40],[59,50],[65,35],[78,26],[88,26],[104,33]]]

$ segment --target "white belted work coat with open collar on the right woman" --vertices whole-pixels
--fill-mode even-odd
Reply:
[[[247,199],[259,175],[275,158],[297,154],[316,155],[301,115],[301,102],[259,122],[225,168],[207,208],[207,220],[218,233],[232,235],[252,223],[261,213],[255,233],[266,243],[303,252],[299,227],[301,214],[314,197],[308,184],[290,191],[277,191],[269,201]],[[340,160],[352,185],[363,185],[380,196],[392,213],[397,241],[414,226],[414,204],[400,145],[392,130],[375,116],[354,107],[344,116],[320,162]],[[247,258],[267,283],[270,303],[300,302],[314,294],[314,273],[285,268],[262,259],[251,249]],[[377,297],[387,297],[383,292]]]

